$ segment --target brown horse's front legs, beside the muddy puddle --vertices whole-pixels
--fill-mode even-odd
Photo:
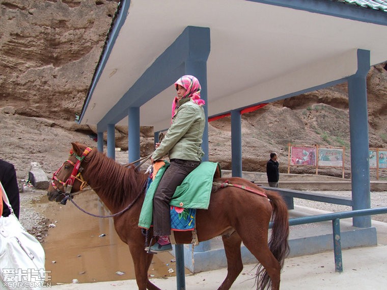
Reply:
[[[134,273],[139,290],[161,290],[148,279],[148,269],[151,265],[153,254],[147,254],[144,245],[129,245],[130,254],[134,263]]]

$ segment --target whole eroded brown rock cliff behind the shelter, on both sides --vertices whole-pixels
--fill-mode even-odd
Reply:
[[[118,2],[0,0],[0,108],[14,108],[14,112],[5,110],[13,112],[5,115],[6,123],[3,123],[11,128],[5,134],[7,141],[15,136],[12,128],[16,125],[10,125],[13,120],[22,122],[25,135],[30,132],[36,135],[39,131],[36,126],[42,122],[45,133],[59,128],[77,131],[77,134],[92,132],[93,128],[77,125],[74,118],[81,111]],[[367,85],[370,147],[386,148],[387,71],[384,64],[371,68]],[[23,119],[17,121],[10,116],[22,116]],[[32,118],[32,121],[25,118]],[[127,149],[126,128],[116,129],[117,146]],[[209,126],[210,160],[220,162],[224,169],[231,167],[230,129],[229,118],[211,122]],[[60,134],[55,133],[58,137]],[[20,136],[15,142],[23,142]],[[345,146],[345,171],[349,176],[347,85],[277,101],[244,114],[242,137],[243,170],[265,171],[269,153],[277,151],[280,170],[287,172],[288,143],[318,144]],[[66,146],[69,146],[71,141],[77,141],[43,138],[43,146],[39,148],[46,148],[47,140],[54,146],[55,142],[67,142]],[[149,154],[153,148],[152,128],[142,129],[141,140],[142,155]],[[7,144],[11,146],[15,142]],[[34,154],[31,144],[26,146]],[[42,150],[40,153],[47,150],[49,154],[49,148]],[[16,162],[17,156],[12,154],[15,155],[9,150],[6,157]],[[314,173],[315,169],[302,167],[291,172]],[[341,176],[341,169],[319,172]]]

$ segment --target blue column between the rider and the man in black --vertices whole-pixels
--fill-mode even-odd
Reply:
[[[242,177],[242,132],[240,111],[231,111],[231,170],[232,176]]]

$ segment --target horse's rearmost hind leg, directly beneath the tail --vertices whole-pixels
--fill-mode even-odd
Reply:
[[[267,245],[267,231],[265,225],[245,225],[243,232],[238,231],[246,248],[258,259],[271,280],[271,290],[280,289],[281,265],[274,257]],[[256,234],[253,234],[256,233]],[[262,277],[258,278],[258,286]],[[268,281],[270,283],[270,281]],[[257,286],[257,288],[258,288]],[[265,287],[260,288],[263,290]]]

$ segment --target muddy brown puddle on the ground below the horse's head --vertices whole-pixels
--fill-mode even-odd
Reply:
[[[90,213],[109,215],[93,191],[85,191],[74,200]],[[61,205],[49,202],[47,197],[39,201],[39,206],[55,225],[49,228],[43,243],[46,270],[51,271],[53,285],[71,283],[73,279],[88,283],[135,278],[129,248],[118,238],[113,218],[95,218],[71,202]],[[174,256],[168,252],[154,255],[148,275],[175,276]]]

